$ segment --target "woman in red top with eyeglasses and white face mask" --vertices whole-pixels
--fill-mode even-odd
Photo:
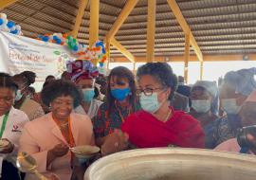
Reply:
[[[142,110],[126,118],[121,132],[117,133],[116,142],[113,138],[106,139],[102,147],[104,154],[113,153],[113,147],[116,147],[114,152],[123,150],[125,144],[133,144],[137,148],[204,148],[205,135],[200,123],[170,106],[177,80],[168,63],[140,66],[137,82]]]

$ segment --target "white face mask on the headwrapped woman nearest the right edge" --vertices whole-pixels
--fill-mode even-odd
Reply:
[[[237,115],[241,106],[236,105],[236,99],[222,99],[222,108],[228,115]]]

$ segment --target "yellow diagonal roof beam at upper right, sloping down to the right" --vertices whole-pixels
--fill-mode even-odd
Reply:
[[[200,50],[200,47],[197,45],[197,43],[192,35],[191,28],[187,24],[176,1],[175,0],[167,0],[167,2],[169,4],[170,8],[173,10],[174,16],[176,17],[176,20],[178,21],[178,24],[180,25],[180,27],[183,29],[184,33],[190,35],[190,43],[192,45],[192,48],[193,48],[197,58],[199,59],[200,62],[203,62],[203,54]]]

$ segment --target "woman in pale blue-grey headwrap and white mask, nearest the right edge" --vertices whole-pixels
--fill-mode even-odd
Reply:
[[[239,111],[249,94],[256,89],[256,68],[230,71],[220,88],[220,105],[227,116],[216,121],[214,140],[216,145],[236,136],[241,128]]]

